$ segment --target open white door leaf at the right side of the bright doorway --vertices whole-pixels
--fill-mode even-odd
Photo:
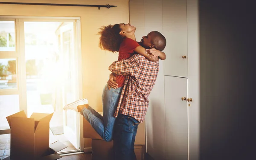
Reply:
[[[77,56],[76,22],[64,22],[56,31],[59,49],[64,68],[62,101],[63,105],[70,104],[80,98],[79,96],[79,62]],[[63,111],[64,135],[76,149],[80,149],[79,113],[73,110]]]

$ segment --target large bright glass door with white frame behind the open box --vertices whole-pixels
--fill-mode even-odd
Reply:
[[[63,110],[82,98],[80,18],[66,18],[0,19],[0,134],[15,112],[54,112],[49,143],[68,146],[61,152],[84,145],[81,116]]]

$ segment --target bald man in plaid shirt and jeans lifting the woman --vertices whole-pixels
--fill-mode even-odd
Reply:
[[[152,40],[154,39],[154,41]],[[140,44],[148,48],[163,51],[165,37],[157,31],[143,36]],[[154,52],[155,49],[151,49]],[[157,58],[157,57],[156,57]],[[135,54],[129,59],[113,62],[109,66],[112,72],[108,84],[116,87],[116,75],[126,76],[119,104],[114,114],[114,151],[116,160],[136,160],[134,141],[138,125],[144,121],[148,108],[148,96],[154,87],[159,71],[159,63],[150,62],[144,56]]]

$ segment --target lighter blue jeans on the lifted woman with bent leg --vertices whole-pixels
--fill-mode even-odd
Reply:
[[[88,109],[83,108],[81,110],[81,115],[92,125],[102,139],[107,142],[113,139],[113,127],[116,121],[114,113],[122,93],[122,88],[111,88],[109,90],[108,84],[104,87],[102,93],[103,117],[90,106]]]

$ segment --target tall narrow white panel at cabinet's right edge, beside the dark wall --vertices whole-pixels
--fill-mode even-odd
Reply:
[[[198,0],[187,0],[189,160],[200,158],[200,44]]]

